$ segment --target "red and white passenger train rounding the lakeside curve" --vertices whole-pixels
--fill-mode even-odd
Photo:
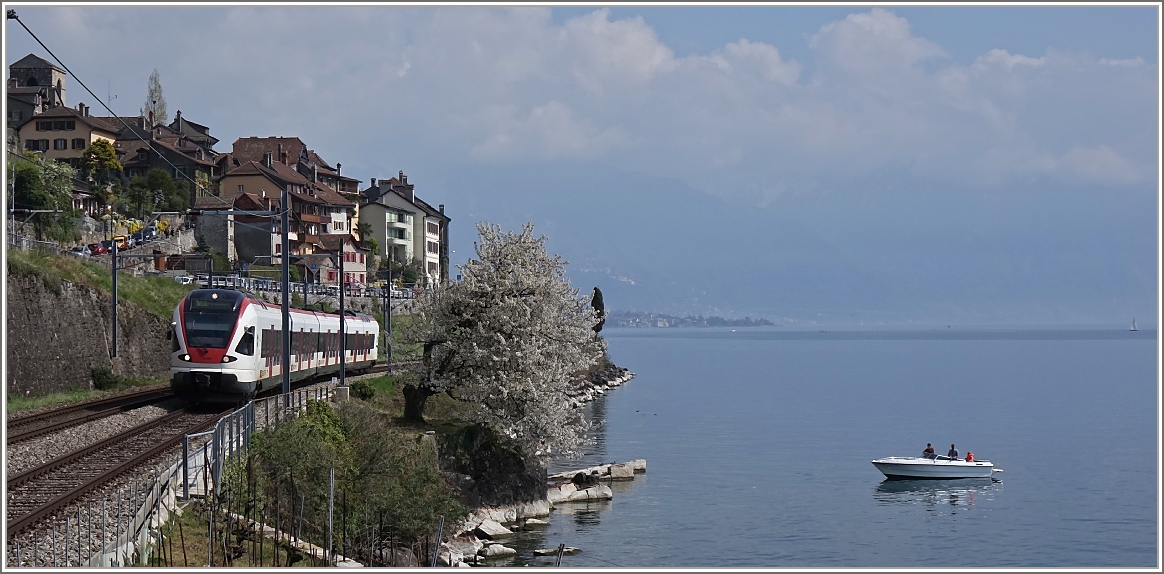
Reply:
[[[345,369],[376,362],[379,324],[345,312]],[[196,289],[173,310],[170,388],[194,402],[237,402],[283,384],[279,305],[230,289]],[[291,309],[292,382],[340,371],[340,316]]]

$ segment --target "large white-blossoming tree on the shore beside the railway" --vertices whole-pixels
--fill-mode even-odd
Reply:
[[[404,385],[405,418],[423,420],[426,399],[446,392],[531,460],[573,454],[587,424],[567,391],[605,346],[595,311],[531,224],[520,233],[478,224],[477,233],[463,281],[417,300],[405,336],[423,345],[424,367]]]

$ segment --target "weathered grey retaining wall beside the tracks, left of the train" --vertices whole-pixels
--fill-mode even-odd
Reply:
[[[112,346],[111,297],[72,283],[59,295],[37,278],[7,278],[7,392],[40,396],[92,387],[91,368],[122,376],[166,375],[169,320],[125,299],[118,305],[118,359]]]

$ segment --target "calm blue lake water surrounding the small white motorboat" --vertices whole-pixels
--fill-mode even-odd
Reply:
[[[637,374],[580,461],[646,459],[613,501],[520,533],[588,567],[1159,566],[1155,329],[604,329]],[[1002,481],[883,482],[925,442]]]

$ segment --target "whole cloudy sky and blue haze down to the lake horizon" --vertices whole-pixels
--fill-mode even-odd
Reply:
[[[532,222],[610,310],[1159,317],[1158,5],[5,8],[5,61],[59,59],[69,105],[136,115],[157,70],[217,150],[404,171],[454,265]]]

